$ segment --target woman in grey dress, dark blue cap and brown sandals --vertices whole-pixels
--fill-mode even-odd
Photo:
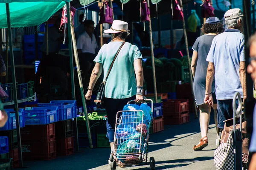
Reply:
[[[203,24],[202,31],[204,35],[198,37],[192,47],[193,56],[191,61],[191,70],[194,77],[193,88],[195,92],[196,103],[199,106],[200,111],[200,129],[201,129],[201,139],[200,142],[193,147],[193,150],[202,150],[208,145],[208,127],[209,127],[209,118],[211,113],[211,108],[214,110],[214,121],[217,130],[217,100],[215,96],[215,79],[212,83],[212,98],[213,105],[210,108],[204,103],[204,92],[205,92],[205,82],[207,75],[207,66],[208,62],[206,61],[207,54],[212,45],[212,40],[216,35],[224,31],[221,20],[217,17],[209,17],[205,24]],[[217,133],[218,134],[218,133]]]

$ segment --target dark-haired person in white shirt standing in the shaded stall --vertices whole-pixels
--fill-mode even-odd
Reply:
[[[90,72],[90,68],[93,68],[95,65],[93,59],[96,57],[98,44],[93,34],[94,29],[94,22],[92,20],[84,21],[85,31],[79,35],[76,42],[80,63],[87,63],[87,65],[81,65],[81,70],[84,72]]]

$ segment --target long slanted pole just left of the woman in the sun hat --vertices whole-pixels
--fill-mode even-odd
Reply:
[[[74,31],[74,27],[73,27],[73,18],[71,16],[71,13],[69,15],[70,15],[71,35],[72,35],[72,41],[73,41],[76,68],[77,68],[77,74],[78,74],[78,78],[79,78],[79,86],[80,86],[80,91],[81,91],[83,107],[84,107],[84,116],[85,116],[85,122],[86,122],[86,127],[87,127],[87,134],[88,134],[88,138],[89,138],[90,148],[93,148],[92,137],[91,137],[91,133],[90,133],[90,123],[89,123],[89,119],[88,119],[87,106],[86,106],[86,102],[85,102],[85,98],[84,98],[84,88],[83,88],[81,70],[80,70],[77,47],[76,47],[75,31]]]

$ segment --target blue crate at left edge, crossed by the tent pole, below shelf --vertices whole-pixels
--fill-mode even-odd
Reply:
[[[6,114],[8,115],[8,120],[4,127],[1,127],[0,130],[13,130],[17,128],[16,125],[16,117],[14,109],[5,109]],[[19,119],[20,119],[20,127],[25,127],[25,116],[24,109],[19,110]]]

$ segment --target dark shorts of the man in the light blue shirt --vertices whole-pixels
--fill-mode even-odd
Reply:
[[[243,99],[242,99],[243,101]],[[217,100],[217,122],[218,127],[224,129],[224,122],[233,118],[233,99]],[[236,108],[238,107],[238,99],[236,99]]]

